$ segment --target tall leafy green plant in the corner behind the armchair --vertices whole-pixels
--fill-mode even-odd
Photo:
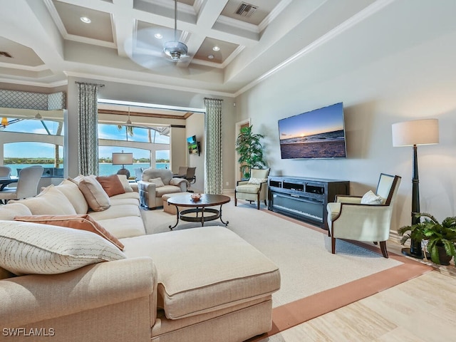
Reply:
[[[260,139],[264,135],[253,134],[253,126],[241,128],[239,135],[236,139],[236,151],[239,154],[239,168],[242,177],[245,179],[250,178],[250,169],[261,168],[266,166],[263,159],[263,146]]]

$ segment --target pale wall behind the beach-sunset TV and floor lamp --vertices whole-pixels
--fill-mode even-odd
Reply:
[[[393,229],[410,224],[412,147],[393,147],[391,125],[438,118],[440,144],[418,147],[421,212],[456,215],[456,1],[393,1],[368,21],[309,48],[239,95],[237,121],[252,119],[271,175],[350,180],[375,189],[380,172],[403,177]],[[281,160],[277,120],[344,103],[348,158]]]

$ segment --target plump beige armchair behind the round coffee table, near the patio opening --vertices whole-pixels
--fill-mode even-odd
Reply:
[[[138,182],[140,204],[147,209],[162,207],[162,195],[187,192],[188,182],[183,178],[173,178],[171,170],[146,169]]]

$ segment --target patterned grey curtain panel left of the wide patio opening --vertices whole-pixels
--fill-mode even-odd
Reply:
[[[78,83],[78,172],[98,175],[98,84]]]

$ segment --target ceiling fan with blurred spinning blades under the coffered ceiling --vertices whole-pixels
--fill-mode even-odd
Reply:
[[[165,30],[166,31],[166,30]],[[170,31],[170,29],[168,30]],[[125,41],[125,51],[135,63],[148,69],[160,68],[166,65],[176,66],[190,58],[185,43],[177,38],[177,0],[174,4],[174,32],[162,34],[163,28],[147,27],[139,29]],[[167,38],[162,44],[157,43],[157,37]],[[171,63],[170,63],[171,62]]]

